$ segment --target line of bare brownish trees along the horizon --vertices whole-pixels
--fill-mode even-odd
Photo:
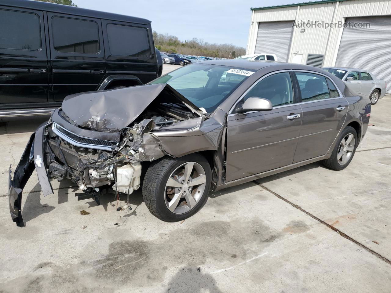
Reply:
[[[153,39],[156,48],[167,53],[230,59],[246,54],[245,48],[232,44],[211,44],[197,38],[181,41],[176,36],[159,34],[156,31],[153,31]]]

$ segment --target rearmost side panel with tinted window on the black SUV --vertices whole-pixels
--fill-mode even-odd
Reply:
[[[134,75],[143,84],[158,77],[158,64],[150,27],[102,20],[102,28],[108,75]]]

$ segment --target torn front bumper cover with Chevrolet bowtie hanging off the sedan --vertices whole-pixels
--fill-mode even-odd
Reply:
[[[43,134],[45,127],[47,127],[46,123],[41,125],[36,132],[30,136],[22,158],[20,159],[18,166],[16,166],[14,179],[11,179],[11,166],[9,166],[9,211],[11,212],[12,220],[18,227],[24,227],[22,218],[22,193],[23,188],[30,179],[34,169],[37,169],[38,180],[43,195],[46,196],[53,193],[52,186],[47,177],[45,163],[43,162]]]

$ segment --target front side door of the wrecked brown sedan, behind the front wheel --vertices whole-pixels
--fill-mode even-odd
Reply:
[[[262,78],[244,95],[267,98],[271,111],[228,116],[226,181],[292,164],[301,128],[301,107],[295,104],[291,75],[280,72]]]

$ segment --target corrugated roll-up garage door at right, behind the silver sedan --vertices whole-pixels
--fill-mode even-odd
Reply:
[[[391,16],[346,18],[346,22],[370,23],[369,28],[345,27],[335,66],[371,71],[387,82],[391,93]]]

